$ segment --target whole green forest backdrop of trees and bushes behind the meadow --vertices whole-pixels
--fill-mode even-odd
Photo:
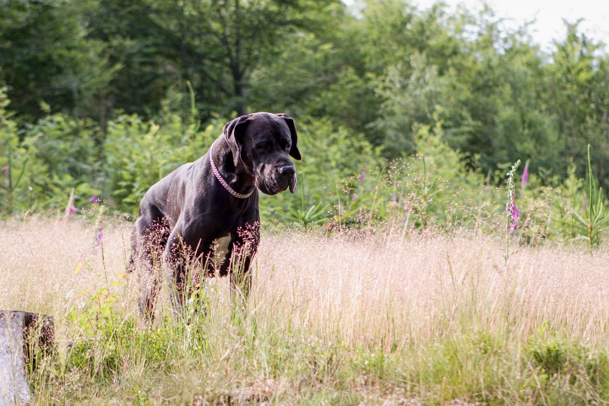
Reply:
[[[497,229],[520,159],[526,240],[595,243],[609,55],[565,25],[547,51],[527,24],[441,2],[0,0],[0,211],[133,216],[225,122],[272,111],[304,158],[265,222]]]

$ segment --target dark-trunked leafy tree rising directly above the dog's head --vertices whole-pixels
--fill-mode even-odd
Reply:
[[[252,72],[281,51],[290,34],[310,30],[314,16],[338,0],[185,0],[147,1],[150,19],[168,33],[185,79],[206,108],[227,104],[247,113]],[[279,84],[281,85],[281,84]]]

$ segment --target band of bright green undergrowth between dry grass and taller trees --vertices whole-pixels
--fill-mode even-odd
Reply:
[[[194,108],[183,115],[166,107],[155,121],[123,114],[102,131],[93,121],[60,113],[34,124],[18,121],[8,107],[0,91],[0,211],[6,215],[89,208],[98,195],[110,211],[135,215],[147,189],[205,154],[229,121],[216,117],[200,128]],[[507,167],[486,176],[476,169],[477,156],[448,144],[441,111],[431,114],[431,124],[412,124],[416,154],[393,161],[350,128],[298,118],[303,159],[295,162],[297,192],[260,194],[262,222],[326,230],[396,222],[503,232]],[[564,180],[549,170],[531,173],[516,191],[516,240],[539,244],[581,236],[576,214],[589,211],[590,200],[584,184],[573,164]],[[595,200],[595,208],[604,200]],[[606,234],[600,224],[594,241]]]

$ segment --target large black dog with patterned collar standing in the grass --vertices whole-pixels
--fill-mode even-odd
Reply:
[[[144,317],[153,317],[161,263],[174,310],[180,311],[188,261],[203,264],[202,275],[208,275],[223,242],[228,247],[219,275],[231,273],[231,261],[238,259],[249,289],[248,270],[260,236],[256,188],[267,195],[287,188],[294,193],[296,170],[288,155],[301,159],[297,138],[294,120],[286,114],[241,116],[224,126],[208,153],[150,187],[139,203],[128,265],[138,268]]]

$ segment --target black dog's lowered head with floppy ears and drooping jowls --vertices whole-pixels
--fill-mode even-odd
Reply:
[[[300,161],[294,120],[286,114],[253,113],[224,126],[234,166],[243,165],[267,195],[296,190],[296,169],[289,156]]]

